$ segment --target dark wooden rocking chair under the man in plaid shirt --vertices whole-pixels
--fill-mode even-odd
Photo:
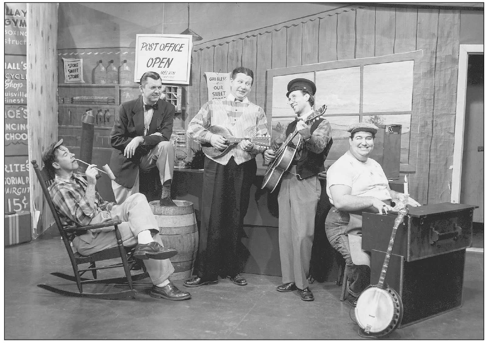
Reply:
[[[51,185],[54,177],[50,177],[49,172],[45,168],[43,170],[40,170],[38,164],[36,163],[36,160],[32,160],[31,163],[32,166],[34,167],[34,171],[39,180],[39,183],[41,184],[41,188],[43,189],[43,194],[47,200],[47,204],[49,205],[54,220],[56,221],[56,225],[58,226],[58,230],[61,234],[63,243],[65,244],[66,250],[68,252],[69,260],[71,262],[71,266],[73,267],[73,273],[74,273],[74,276],[70,276],[59,272],[53,272],[51,273],[51,275],[76,282],[76,284],[78,285],[79,293],[55,288],[46,284],[38,284],[38,286],[54,293],[67,295],[67,296],[74,296],[74,297],[89,297],[89,298],[98,298],[98,299],[134,298],[134,296],[137,295],[138,293],[135,289],[133,289],[133,281],[147,278],[149,277],[149,274],[146,272],[146,268],[144,267],[144,265],[142,265],[144,273],[131,276],[130,271],[136,269],[137,260],[133,258],[134,247],[125,247],[122,244],[121,234],[117,227],[117,225],[120,224],[122,221],[112,220],[109,222],[92,224],[87,226],[64,227],[61,224],[61,220],[60,217],[58,216],[58,213],[56,212],[56,209],[54,208],[51,195],[47,190],[47,187]],[[103,251],[97,252],[90,256],[82,256],[78,252],[76,253],[73,252],[70,243],[74,236],[70,237],[70,235],[74,235],[76,232],[80,232],[80,231],[86,231],[90,229],[107,227],[107,226],[114,227],[115,238],[117,239],[116,247],[104,249]],[[95,261],[111,260],[117,258],[120,258],[121,262],[105,265],[105,266],[99,266],[99,267],[95,265]],[[90,263],[89,267],[86,267],[84,269],[78,268],[78,265],[85,264],[85,263]],[[110,269],[116,267],[123,267],[125,276],[117,277],[117,278],[108,278],[108,279],[97,279],[97,270]],[[91,271],[93,279],[86,279],[81,277],[83,276],[84,273],[89,271]],[[113,293],[84,293],[82,287],[83,283],[119,283],[119,284],[128,283],[130,289],[119,291],[119,292],[113,292]]]

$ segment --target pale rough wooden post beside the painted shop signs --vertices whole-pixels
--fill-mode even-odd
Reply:
[[[42,152],[58,139],[57,18],[56,3],[27,4],[28,151],[29,161],[37,160],[40,166]],[[36,235],[33,235],[36,239],[54,219],[33,170],[29,171],[29,180],[31,216],[34,206],[42,212]]]

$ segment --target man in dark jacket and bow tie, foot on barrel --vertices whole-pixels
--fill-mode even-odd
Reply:
[[[156,72],[141,76],[141,96],[122,103],[111,131],[111,169],[115,175],[112,190],[120,204],[139,192],[139,170],[159,170],[163,186],[161,206],[177,206],[170,197],[174,149],[170,136],[175,106],[160,99],[161,77]]]

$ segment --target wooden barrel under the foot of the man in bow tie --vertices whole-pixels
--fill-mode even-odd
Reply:
[[[186,200],[173,200],[177,206],[160,206],[159,200],[151,201],[150,206],[159,227],[159,235],[165,247],[172,247],[178,254],[170,261],[175,272],[170,280],[190,278],[199,248],[199,232],[195,219],[194,204]]]

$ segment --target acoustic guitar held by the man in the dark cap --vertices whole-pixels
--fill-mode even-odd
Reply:
[[[326,111],[326,105],[316,109],[304,121],[306,124],[322,116]],[[262,189],[267,188],[273,192],[282,179],[283,174],[289,169],[292,160],[295,157],[297,148],[301,145],[302,136],[298,135],[297,130],[292,131],[284,143],[275,151],[275,158],[268,164],[267,170],[263,177]]]

